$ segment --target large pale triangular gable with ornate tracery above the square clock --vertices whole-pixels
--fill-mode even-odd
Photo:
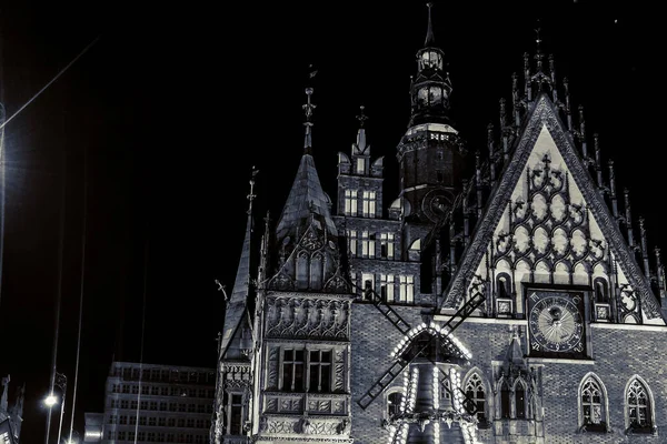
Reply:
[[[498,290],[498,279],[507,287]],[[536,101],[512,158],[492,192],[477,232],[454,276],[446,306],[460,305],[479,287],[514,297],[520,311],[521,283],[617,285],[618,322],[665,322],[658,300],[596,191],[571,135],[547,94]],[[601,295],[600,295],[601,297]],[[487,312],[497,312],[487,301]]]

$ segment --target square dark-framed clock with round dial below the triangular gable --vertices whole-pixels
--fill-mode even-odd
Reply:
[[[530,355],[584,356],[583,304],[584,295],[580,292],[529,290]]]

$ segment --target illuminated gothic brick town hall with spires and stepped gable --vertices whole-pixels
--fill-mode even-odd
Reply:
[[[435,18],[396,152],[371,151],[361,110],[325,192],[306,88],[280,214],[253,213],[252,176],[211,442],[667,442],[664,265],[614,164],[539,39],[466,147]]]

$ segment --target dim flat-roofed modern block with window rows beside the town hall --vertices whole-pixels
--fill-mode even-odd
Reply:
[[[213,369],[113,362],[84,442],[208,443],[215,387]]]

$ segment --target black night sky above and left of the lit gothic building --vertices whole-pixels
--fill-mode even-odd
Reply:
[[[395,149],[409,119],[427,8],[2,3],[1,101],[11,121],[0,373],[11,374],[13,387],[27,385],[21,442],[32,444],[43,442],[40,400],[60,281],[66,430],[81,294],[74,428],[82,432],[84,412],[103,410],[112,356],[140,360],[143,303],[143,362],[215,366],[223,314],[215,280],[231,290],[252,165],[258,232],[267,210],[280,212],[302,154],[306,85],[315,87],[313,155],[330,196],[336,154],[349,153],[362,104],[371,153],[386,157],[387,199],[396,198]],[[495,3],[485,10],[436,1],[432,9],[455,127],[470,150],[486,153],[487,124],[497,124],[499,99],[510,99],[511,73],[521,73],[524,52],[535,52],[539,27],[559,81],[569,79],[574,107],[585,107],[589,147],[598,132],[604,164],[616,162],[617,190],[630,190],[635,221],[646,218],[649,245],[667,248],[659,226],[667,188],[657,161],[665,114],[656,100],[664,89],[658,11],[637,2]]]

